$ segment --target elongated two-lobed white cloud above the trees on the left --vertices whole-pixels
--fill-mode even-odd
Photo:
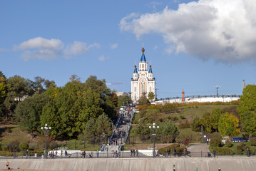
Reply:
[[[98,43],[87,45],[85,42],[74,41],[73,44],[68,45],[65,48],[61,40],[36,37],[24,41],[18,46],[14,46],[14,51],[24,51],[21,55],[21,58],[23,58],[24,61],[30,59],[52,60],[57,56],[71,58],[76,55],[85,54],[90,48],[98,48],[99,46]]]

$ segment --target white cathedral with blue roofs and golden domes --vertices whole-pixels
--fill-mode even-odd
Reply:
[[[148,93],[153,92],[155,95],[155,78],[153,78],[153,72],[151,65],[148,70],[148,63],[145,60],[145,49],[142,48],[142,55],[140,58],[139,68],[134,66],[133,78],[131,78],[131,100],[133,103],[137,103],[138,99],[145,95],[148,97]]]

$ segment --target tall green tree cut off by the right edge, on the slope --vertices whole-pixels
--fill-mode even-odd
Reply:
[[[240,97],[240,104],[237,108],[240,114],[240,119],[243,120],[243,116],[248,112],[256,112],[256,86],[247,85],[244,90],[242,90],[242,95]]]

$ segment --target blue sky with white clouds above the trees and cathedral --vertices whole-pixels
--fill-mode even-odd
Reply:
[[[256,82],[255,16],[252,0],[2,0],[0,71],[130,92],[144,46],[158,98],[241,95]]]

